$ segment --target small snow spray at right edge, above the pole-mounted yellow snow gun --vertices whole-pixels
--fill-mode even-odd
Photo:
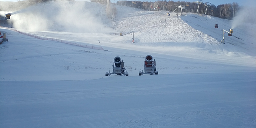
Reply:
[[[247,5],[255,5],[255,0],[247,0]],[[240,26],[242,23],[253,23],[256,24],[256,7],[252,6],[243,6],[242,9],[237,13],[237,16],[234,17],[232,20],[232,27],[231,29],[234,29],[238,26]]]

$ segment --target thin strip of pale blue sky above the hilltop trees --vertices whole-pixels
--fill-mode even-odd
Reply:
[[[13,2],[17,2],[17,0],[0,0],[0,1],[13,1]],[[75,0],[75,1],[89,1],[89,0]],[[111,0],[112,3],[117,2],[117,1],[119,1],[119,0]],[[132,1],[132,0],[128,0],[128,1]],[[155,2],[157,0],[135,0],[135,1]],[[169,0],[167,0],[167,1],[169,1]],[[178,0],[173,0],[173,1],[176,2]],[[180,1],[195,2],[197,0],[180,0]],[[241,6],[241,5],[244,5],[245,1],[248,1],[248,0],[203,0],[203,2],[209,2],[211,4],[214,4],[215,6],[218,6],[220,4],[228,4],[228,3],[232,4],[233,2],[237,2]]]

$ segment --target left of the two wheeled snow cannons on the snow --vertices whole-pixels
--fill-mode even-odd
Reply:
[[[113,67],[113,72],[110,73],[106,72],[106,76],[110,76],[110,74],[117,74],[117,75],[124,75],[124,76],[128,76],[128,72],[126,71],[126,69],[124,68],[124,60],[121,61],[121,58],[119,56],[114,58],[114,63],[112,65]]]

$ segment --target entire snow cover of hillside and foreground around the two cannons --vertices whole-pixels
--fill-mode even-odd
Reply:
[[[105,7],[51,3],[13,12],[19,31],[108,51],[0,28],[9,40],[0,45],[0,128],[256,127],[255,24],[226,33],[223,44],[231,20],[124,6],[110,19]],[[119,35],[132,31],[135,43]],[[138,75],[147,55],[158,75]],[[129,76],[105,76],[116,56]]]

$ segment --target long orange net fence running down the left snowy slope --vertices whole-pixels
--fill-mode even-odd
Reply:
[[[2,26],[1,26],[1,27],[2,27]],[[23,34],[23,35],[28,35],[28,36],[30,36],[30,37],[35,37],[35,38],[37,38],[37,39],[49,40],[49,41],[58,41],[58,42],[61,42],[61,43],[70,44],[70,45],[76,45],[76,46],[81,46],[81,47],[84,47],[84,48],[92,48],[92,49],[104,50],[102,47],[96,47],[96,46],[93,46],[93,45],[80,45],[80,44],[72,43],[72,42],[69,42],[69,41],[66,41],[66,40],[62,40],[62,39],[40,37],[40,36],[37,36],[37,35],[32,35],[32,34],[29,34],[29,33],[20,32],[20,31],[14,29],[14,28],[7,28],[7,27],[2,27],[2,28],[6,28],[6,29],[9,29],[9,30],[13,30],[13,31],[19,32],[19,33],[21,33],[21,34]],[[104,51],[107,51],[107,50],[104,50]]]

